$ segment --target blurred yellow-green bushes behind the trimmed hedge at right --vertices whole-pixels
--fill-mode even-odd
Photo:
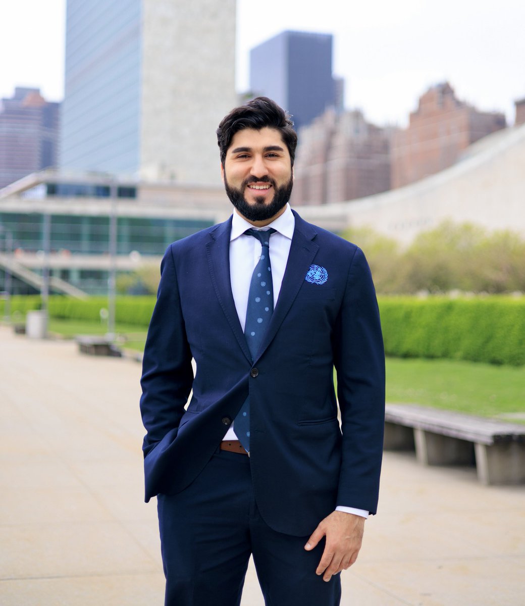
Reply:
[[[375,288],[383,295],[525,291],[525,239],[512,231],[488,232],[444,221],[420,233],[406,250],[369,228],[354,228],[343,236],[363,248]]]

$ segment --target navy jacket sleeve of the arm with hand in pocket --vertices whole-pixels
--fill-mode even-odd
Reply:
[[[157,302],[142,362],[140,413],[147,430],[143,444],[145,457],[170,431],[176,433],[192,383],[191,351],[171,245],[160,264]]]

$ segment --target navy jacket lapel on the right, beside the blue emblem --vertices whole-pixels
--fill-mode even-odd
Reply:
[[[290,245],[285,275],[283,276],[276,308],[272,314],[268,331],[266,331],[265,338],[257,353],[256,361],[271,343],[274,336],[276,336],[277,330],[279,330],[289,308],[294,302],[299,288],[305,281],[306,272],[319,250],[319,246],[312,241],[316,235],[314,227],[303,221],[295,211],[293,212],[296,218],[296,227],[294,228],[294,235]]]

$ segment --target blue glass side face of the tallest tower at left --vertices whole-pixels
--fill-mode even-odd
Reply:
[[[68,0],[61,167],[134,173],[141,0]]]

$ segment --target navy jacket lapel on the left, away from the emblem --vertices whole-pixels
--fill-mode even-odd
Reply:
[[[228,221],[217,225],[210,232],[210,241],[206,244],[206,255],[208,267],[210,268],[211,281],[219,299],[220,307],[233,330],[237,342],[244,355],[251,362],[248,344],[239,322],[239,316],[231,292],[231,280],[229,276],[229,235],[231,233],[231,217]]]

